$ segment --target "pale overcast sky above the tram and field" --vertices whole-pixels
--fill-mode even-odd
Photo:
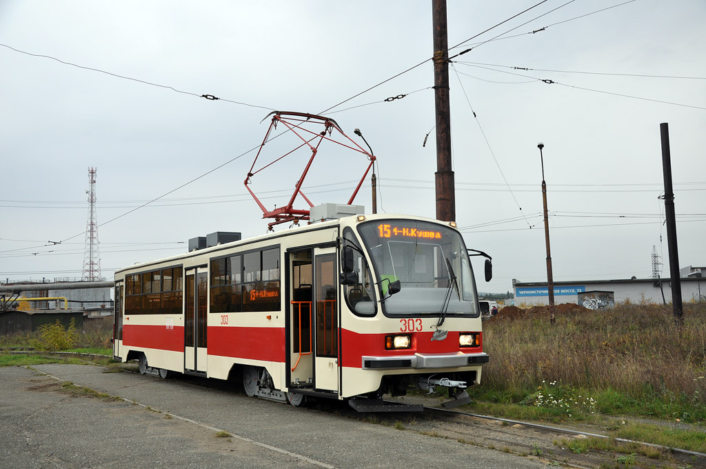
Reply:
[[[706,2],[548,0],[468,41],[538,2],[448,1],[450,55],[472,48],[450,97],[457,222],[495,268],[479,290],[546,281],[540,141],[554,280],[649,278],[653,246],[668,276],[662,122],[680,264],[705,265]],[[0,0],[0,44],[0,279],[80,278],[88,167],[112,278],[191,237],[263,234],[243,185],[262,119],[323,112],[429,59],[431,1]],[[326,113],[373,148],[378,212],[435,217],[432,85],[427,61]],[[345,203],[366,162],[326,152],[305,193]],[[252,188],[282,206],[303,168],[282,160]],[[355,201],[368,211],[370,192]]]

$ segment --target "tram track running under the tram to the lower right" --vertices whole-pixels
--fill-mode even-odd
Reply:
[[[11,350],[12,354],[42,355],[54,359],[74,358],[83,362],[105,366],[92,361],[95,357],[112,359],[109,355],[88,354],[83,352],[40,352],[35,350]],[[83,360],[85,357],[88,360]],[[124,369],[126,372],[136,370]],[[198,376],[178,374],[172,380],[190,386],[203,388],[216,388],[229,393],[244,394],[240,386],[233,386],[232,382],[208,380]],[[167,380],[168,381],[168,380]],[[419,400],[429,400],[419,398]],[[390,401],[399,403],[399,401]],[[515,453],[520,456],[539,458],[549,464],[568,465],[576,468],[598,468],[606,464],[616,464],[620,458],[617,451],[597,451],[590,449],[577,453],[575,449],[556,444],[558,438],[568,441],[580,439],[603,439],[624,445],[624,448],[635,449],[645,447],[654,450],[654,454],[661,455],[659,459],[647,458],[635,452],[626,453],[625,457],[633,458],[630,461],[633,467],[656,468],[706,468],[706,453],[686,449],[670,448],[658,444],[646,443],[609,437],[605,434],[589,432],[581,429],[570,429],[544,425],[537,422],[505,419],[490,415],[480,415],[459,410],[448,410],[433,405],[424,404],[424,412],[390,412],[382,414],[361,414],[340,401],[325,399],[314,400],[313,403],[301,409],[304,412],[325,412],[355,420],[388,425],[397,429],[404,429],[429,437],[455,439],[463,444],[483,446],[500,451]],[[561,441],[561,440],[559,440]],[[630,450],[631,451],[631,450]],[[642,461],[642,465],[640,463]]]

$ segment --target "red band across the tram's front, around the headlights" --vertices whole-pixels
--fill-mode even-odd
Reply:
[[[341,330],[341,348],[343,367],[360,368],[362,357],[395,357],[397,355],[414,355],[415,353],[474,353],[481,352],[481,347],[461,348],[458,343],[458,331],[448,331],[445,340],[431,340],[433,332],[413,332],[412,345],[402,350],[385,350],[385,336],[400,333],[359,334],[347,329]]]

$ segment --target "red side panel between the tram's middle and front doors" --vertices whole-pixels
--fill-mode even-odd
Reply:
[[[233,327],[208,328],[208,355],[221,357],[285,361],[285,328]]]

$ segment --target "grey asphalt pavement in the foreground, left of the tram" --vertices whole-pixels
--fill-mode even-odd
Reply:
[[[0,369],[0,468],[546,467],[188,382],[92,365],[34,368]],[[61,380],[121,399],[74,397]]]

